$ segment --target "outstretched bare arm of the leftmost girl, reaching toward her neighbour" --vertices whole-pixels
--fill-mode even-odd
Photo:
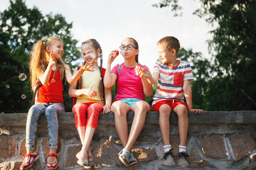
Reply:
[[[87,65],[87,63],[83,64],[83,62],[82,62],[82,67],[78,70],[78,72],[76,72],[73,75],[68,64],[65,64],[64,67],[65,67],[65,77],[69,84],[74,84],[75,81],[78,81],[78,79],[82,76],[82,73],[85,72],[86,70],[93,72],[92,71],[93,67],[90,68],[91,64]]]

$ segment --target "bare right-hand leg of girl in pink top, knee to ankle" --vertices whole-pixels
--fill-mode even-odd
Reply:
[[[146,101],[137,101],[132,105],[131,110],[134,112],[134,120],[132,121],[128,142],[125,146],[129,152],[132,151],[134,142],[137,140],[139,133],[142,132],[146,119],[146,112],[150,111],[150,106]]]

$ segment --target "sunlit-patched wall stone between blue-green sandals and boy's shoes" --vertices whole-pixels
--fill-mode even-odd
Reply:
[[[138,162],[150,162],[159,159],[156,154],[156,149],[152,147],[135,148],[132,153]]]

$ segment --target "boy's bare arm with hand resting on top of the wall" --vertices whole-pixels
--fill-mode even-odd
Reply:
[[[186,104],[188,106],[188,111],[195,111],[196,113],[201,113],[203,110],[193,109],[192,89],[191,89],[190,80],[188,80],[188,79],[183,82],[183,92],[184,92],[184,96],[186,98]]]

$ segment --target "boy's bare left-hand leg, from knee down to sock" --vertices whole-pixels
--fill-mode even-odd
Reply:
[[[171,106],[163,104],[159,108],[159,127],[164,145],[170,145],[170,114]]]

